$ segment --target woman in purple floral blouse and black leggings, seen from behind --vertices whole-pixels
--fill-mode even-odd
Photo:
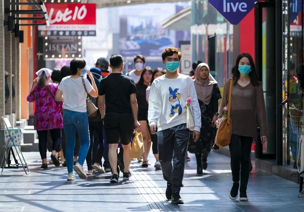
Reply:
[[[37,78],[33,81],[33,86],[29,95],[28,102],[35,102],[34,129],[37,130],[39,140],[39,152],[42,159],[41,169],[47,169],[47,130],[53,140],[53,150],[51,158],[55,166],[60,163],[56,157],[61,142],[62,124],[62,103],[56,102],[54,96],[58,85],[50,83],[52,70],[42,68],[36,72]]]

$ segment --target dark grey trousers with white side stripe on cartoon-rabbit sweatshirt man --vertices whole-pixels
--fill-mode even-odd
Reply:
[[[186,124],[180,124],[157,132],[159,162],[161,163],[164,179],[172,183],[173,193],[175,191],[179,192],[181,187],[184,186],[182,180],[189,138],[190,130],[187,129]]]

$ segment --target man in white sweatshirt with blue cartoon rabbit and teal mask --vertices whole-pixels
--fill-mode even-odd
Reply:
[[[191,134],[186,124],[185,103],[188,93],[192,99],[194,114],[195,127],[192,136],[194,141],[199,138],[201,113],[193,80],[177,72],[181,52],[174,47],[166,48],[162,53],[162,59],[167,71],[165,75],[156,78],[151,85],[148,120],[151,133],[157,134],[159,162],[164,179],[167,181],[166,197],[174,204],[183,204],[184,200],[181,199],[179,192],[183,187],[182,180]],[[189,78],[189,87],[187,87],[187,78]]]

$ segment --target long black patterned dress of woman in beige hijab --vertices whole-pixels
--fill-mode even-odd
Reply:
[[[213,85],[212,97],[210,103],[205,105],[199,100],[199,107],[201,109],[202,127],[199,135],[199,140],[194,142],[193,139],[189,140],[188,151],[196,155],[201,155],[203,149],[211,151],[214,138],[216,135],[216,128],[211,126],[214,113],[218,112],[219,99],[221,99],[221,92],[217,84]]]

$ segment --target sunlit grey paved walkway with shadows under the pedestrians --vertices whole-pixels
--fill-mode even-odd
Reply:
[[[273,174],[250,172],[248,202],[230,200],[230,158],[211,152],[204,174],[196,174],[195,155],[186,163],[181,197],[184,205],[166,200],[166,182],[155,171],[152,153],[148,168],[131,163],[129,181],[109,182],[111,173],[67,181],[67,168],[49,165],[40,169],[39,152],[24,152],[30,174],[23,169],[5,169],[0,175],[0,211],[304,211],[299,185]],[[49,155],[49,154],[48,154]],[[253,164],[254,165],[254,164]],[[86,167],[86,163],[85,163]]]

